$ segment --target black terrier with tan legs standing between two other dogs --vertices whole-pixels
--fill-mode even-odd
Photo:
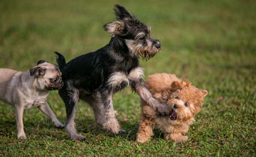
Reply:
[[[66,132],[70,139],[85,139],[76,133],[75,114],[79,99],[92,106],[96,123],[112,133],[122,131],[115,118],[112,97],[130,85],[159,114],[169,114],[166,105],[161,105],[143,85],[142,59],[152,58],[160,50],[160,42],[151,37],[150,27],[141,23],[120,5],[114,8],[117,21],[104,25],[111,34],[105,47],[81,55],[68,63],[58,52],[57,62],[65,85],[59,94],[66,105]]]

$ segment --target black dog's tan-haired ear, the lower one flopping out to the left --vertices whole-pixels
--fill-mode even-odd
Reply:
[[[124,34],[124,23],[122,21],[114,21],[114,22],[109,22],[105,24],[103,27],[107,32],[111,34],[112,37],[115,35],[122,35]]]

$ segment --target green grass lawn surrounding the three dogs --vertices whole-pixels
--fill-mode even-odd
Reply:
[[[0,68],[25,71],[41,59],[55,63],[53,51],[69,61],[106,45],[102,28],[114,20],[115,3],[151,25],[162,52],[140,61],[145,76],[174,73],[208,90],[195,115],[189,140],[175,144],[155,135],[135,142],[139,96],[130,88],[117,93],[114,109],[126,134],[106,133],[80,102],[78,132],[86,141],[70,141],[39,109],[24,113],[27,140],[16,139],[14,108],[0,102],[0,156],[255,156],[256,2],[215,1],[0,1]],[[65,105],[57,91],[48,103],[64,123]]]

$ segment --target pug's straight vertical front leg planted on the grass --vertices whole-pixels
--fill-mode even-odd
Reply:
[[[16,125],[17,125],[17,137],[21,140],[26,140],[27,137],[24,132],[23,126],[23,107],[15,105],[15,114],[16,114]]]

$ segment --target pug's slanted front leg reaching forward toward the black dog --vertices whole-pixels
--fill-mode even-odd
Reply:
[[[61,122],[56,118],[56,115],[53,113],[53,111],[50,109],[50,106],[48,105],[47,102],[45,104],[42,104],[38,106],[38,108],[45,113],[54,123],[55,127],[58,129],[64,128],[64,125],[61,124]]]

